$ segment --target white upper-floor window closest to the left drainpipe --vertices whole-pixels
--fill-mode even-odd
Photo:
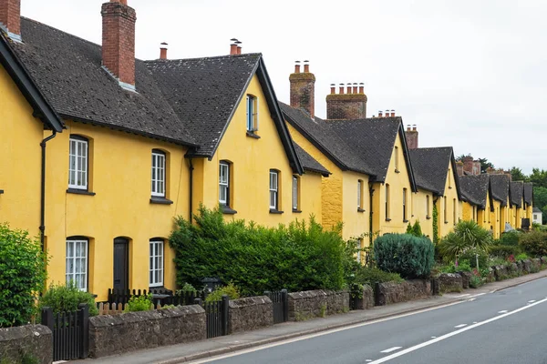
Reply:
[[[68,188],[88,189],[88,140],[70,136],[68,147]]]

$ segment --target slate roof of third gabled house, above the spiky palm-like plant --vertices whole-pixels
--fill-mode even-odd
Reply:
[[[440,196],[444,195],[452,154],[452,147],[428,147],[408,150],[418,187],[425,188]]]

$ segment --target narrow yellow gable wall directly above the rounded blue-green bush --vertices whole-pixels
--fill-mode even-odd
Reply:
[[[396,153],[398,156],[398,168],[396,168]],[[397,171],[396,171],[397,169]],[[389,186],[389,214],[386,218],[386,186]],[[397,134],[395,145],[391,152],[389,167],[387,167],[386,182],[373,184],[373,231],[379,231],[381,235],[386,233],[405,233],[411,216],[410,179],[408,168],[403,156],[403,145]],[[407,189],[407,219],[403,221],[403,188]]]

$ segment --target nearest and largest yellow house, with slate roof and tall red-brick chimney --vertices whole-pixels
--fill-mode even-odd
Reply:
[[[143,62],[135,10],[101,14],[102,47],[13,15],[0,31],[3,156],[20,156],[0,158],[0,220],[42,227],[49,282],[98,300],[176,288],[168,238],[200,203],[269,226],[321,222],[329,172],[294,146],[261,55]]]

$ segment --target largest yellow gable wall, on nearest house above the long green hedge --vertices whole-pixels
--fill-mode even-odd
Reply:
[[[275,227],[280,223],[288,224],[295,218],[307,219],[313,214],[321,223],[321,176],[306,173],[299,177],[302,213],[293,212],[293,169],[256,76],[247,93],[258,98],[259,130],[256,134],[260,138],[246,134],[247,110],[243,97],[212,160],[194,159],[193,210],[196,211],[200,203],[210,208],[218,206],[219,164],[226,160],[232,164],[230,207],[237,211],[235,215],[225,215],[226,219],[243,218]],[[280,171],[279,209],[284,211],[283,214],[270,213],[270,169]]]

